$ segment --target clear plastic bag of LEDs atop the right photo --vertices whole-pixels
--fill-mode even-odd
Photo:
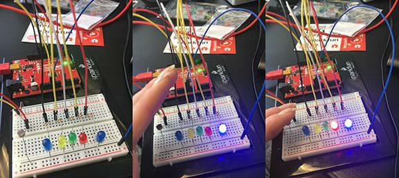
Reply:
[[[302,0],[301,0],[302,1]],[[294,14],[301,15],[301,1],[294,7]],[[362,4],[359,0],[314,0],[312,1],[317,17],[321,19],[338,19],[346,9]],[[309,8],[310,9],[310,8]],[[312,13],[310,12],[310,15]]]

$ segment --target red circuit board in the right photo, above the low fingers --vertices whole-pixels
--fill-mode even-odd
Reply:
[[[328,87],[330,87],[330,89],[337,88],[337,85],[335,84],[335,78],[337,78],[338,86],[341,87],[342,80],[341,77],[339,76],[338,71],[336,70],[335,64],[333,64],[332,66],[328,62],[323,62],[321,63],[321,69],[323,69],[324,71],[324,77],[326,78]],[[295,66],[285,67],[285,69],[283,70],[285,76],[284,83],[278,84],[278,88],[284,94],[284,98],[301,96],[302,95],[301,87],[304,87],[303,94],[311,94],[312,93],[311,84],[313,84],[314,86],[314,91],[320,91],[319,84],[317,82],[317,78],[314,73],[314,67],[310,66],[310,70],[311,72],[309,73],[308,66],[301,66],[301,73],[303,79],[303,84],[301,84],[301,75],[299,75],[299,66],[295,65]],[[321,88],[323,90],[326,90],[327,89],[326,83],[321,78],[322,71],[318,69],[317,72],[319,73]],[[309,78],[309,75],[311,80]]]

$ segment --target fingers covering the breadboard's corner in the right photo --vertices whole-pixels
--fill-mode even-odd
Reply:
[[[296,105],[289,103],[266,109],[266,141],[274,139],[295,116]]]

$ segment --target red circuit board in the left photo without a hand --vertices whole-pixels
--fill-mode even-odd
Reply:
[[[42,63],[41,60],[14,60],[12,61],[14,69],[12,69],[12,85],[7,84],[8,89],[12,93],[13,98],[21,98],[25,96],[33,96],[37,94],[53,92],[53,83],[51,81],[51,72],[48,69],[47,59],[43,60],[44,66],[44,81],[42,82]],[[53,67],[53,66],[52,66]],[[62,72],[61,72],[60,61],[57,62],[55,67],[55,90],[62,90]],[[71,89],[71,76],[69,75],[68,66],[64,65],[65,73],[65,88]],[[81,80],[79,73],[75,66],[71,66],[72,76],[75,84],[75,88],[79,88]],[[37,85],[36,85],[36,84]],[[37,87],[35,87],[37,86]]]

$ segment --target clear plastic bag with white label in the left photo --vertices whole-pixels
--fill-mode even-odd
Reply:
[[[75,12],[76,18],[80,15],[80,12],[87,6],[91,0],[80,0],[76,3]],[[78,26],[91,30],[100,21],[103,21],[108,15],[111,14],[118,7],[119,3],[110,0],[94,0],[89,7],[83,12],[82,16],[78,20]],[[72,26],[74,23],[72,12],[68,12],[63,19],[64,24]]]

